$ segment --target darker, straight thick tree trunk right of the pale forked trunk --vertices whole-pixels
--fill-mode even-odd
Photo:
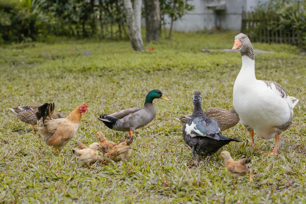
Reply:
[[[160,8],[159,0],[144,0],[146,18],[146,41],[159,40]]]

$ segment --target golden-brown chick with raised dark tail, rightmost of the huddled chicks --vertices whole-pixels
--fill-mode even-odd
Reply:
[[[121,161],[131,156],[132,150],[130,144],[133,142],[133,137],[131,136],[124,142],[114,146],[108,153],[104,154],[104,157],[113,161]]]

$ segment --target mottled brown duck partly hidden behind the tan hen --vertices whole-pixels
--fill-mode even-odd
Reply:
[[[32,133],[35,133],[34,125],[37,124],[37,118],[35,116],[35,113],[38,111],[38,107],[42,105],[43,104],[34,104],[28,106],[18,106],[17,108],[9,108],[9,109],[13,111],[13,113],[18,117],[19,120],[30,124],[32,127]],[[64,116],[58,113],[54,113],[52,115],[52,118],[54,119],[64,118]]]

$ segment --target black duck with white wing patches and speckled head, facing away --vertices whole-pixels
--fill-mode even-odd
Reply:
[[[202,97],[200,92],[195,92],[192,97],[194,110],[191,119],[183,126],[183,139],[191,147],[195,160],[198,155],[210,155],[218,151],[231,141],[240,142],[222,135],[218,123],[207,118],[202,110]]]

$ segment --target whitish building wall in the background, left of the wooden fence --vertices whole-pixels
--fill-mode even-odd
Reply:
[[[193,0],[194,10],[173,23],[175,31],[189,32],[219,27],[240,30],[242,11],[252,11],[258,2],[267,0]],[[170,22],[170,18],[166,18]],[[170,24],[166,25],[169,28]]]

